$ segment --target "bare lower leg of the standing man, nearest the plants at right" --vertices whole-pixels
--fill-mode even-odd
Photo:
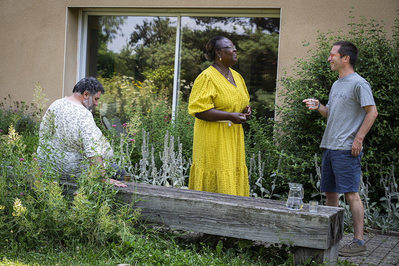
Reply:
[[[358,192],[346,192],[345,199],[348,201],[352,212],[354,238],[363,240],[364,206]]]

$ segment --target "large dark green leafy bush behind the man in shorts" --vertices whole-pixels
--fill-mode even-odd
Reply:
[[[292,73],[286,72],[279,80],[284,89],[280,91],[279,104],[275,106],[278,119],[265,125],[274,127],[274,139],[265,134],[259,121],[249,122],[246,135],[251,137],[247,137],[246,147],[247,152],[250,152],[247,154],[250,162],[248,164],[247,158],[247,165],[252,175],[255,196],[269,198],[277,194],[275,196],[284,199],[283,192],[288,191],[286,184],[290,182],[304,184],[305,199],[321,196],[318,165],[321,163],[322,150],[319,147],[326,119],[316,111],[307,110],[302,99],[316,97],[321,103],[327,103],[332,84],[338,79],[338,73],[330,70],[327,61],[332,43],[338,40],[351,41],[359,49],[355,71],[371,84],[379,112],[363,141],[362,171],[365,185],[361,189],[365,191],[367,188],[368,193],[361,193],[361,197],[365,202],[373,202],[372,206],[366,206],[365,221],[370,227],[394,230],[399,218],[397,182],[394,178],[399,171],[399,20],[395,20],[394,34],[389,40],[383,29],[383,21],[379,24],[373,18],[367,20],[360,16],[360,23],[355,24],[353,13],[350,11],[351,30],[348,35],[343,35],[342,31],[320,32],[316,39],[316,50],[310,50],[311,54],[307,58],[298,59]],[[256,160],[258,151],[261,159]],[[271,185],[261,185],[261,181],[262,184]],[[275,187],[276,183],[282,190]],[[390,188],[389,193],[386,193],[387,188]],[[342,206],[346,206],[344,200]],[[383,211],[389,216],[384,216]],[[349,224],[350,221],[347,222]]]

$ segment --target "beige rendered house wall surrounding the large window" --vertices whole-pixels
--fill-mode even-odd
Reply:
[[[0,1],[0,101],[11,95],[13,101],[32,102],[36,81],[45,89],[49,103],[68,96],[76,83],[79,10],[95,7],[134,8],[142,1],[128,0],[2,0]],[[227,8],[281,8],[279,77],[296,60],[316,47],[317,30],[348,32],[350,5],[359,16],[386,20],[385,29],[397,17],[398,0],[147,0],[147,7],[209,7],[221,13]],[[223,8],[222,4],[232,4]],[[89,7],[89,8],[88,8]],[[310,42],[303,47],[302,40]]]

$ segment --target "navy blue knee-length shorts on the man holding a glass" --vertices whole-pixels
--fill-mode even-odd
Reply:
[[[352,151],[323,150],[320,190],[325,192],[359,192],[360,158]]]

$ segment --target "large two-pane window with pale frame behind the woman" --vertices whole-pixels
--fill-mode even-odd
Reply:
[[[251,107],[274,117],[263,106],[275,103],[280,14],[261,13],[85,12],[79,78],[94,76],[104,85],[102,116],[123,122],[126,111],[138,106],[146,115],[156,97],[166,101],[172,115],[211,65],[203,56],[208,40],[225,36],[237,48],[238,62],[231,68],[243,76]]]

